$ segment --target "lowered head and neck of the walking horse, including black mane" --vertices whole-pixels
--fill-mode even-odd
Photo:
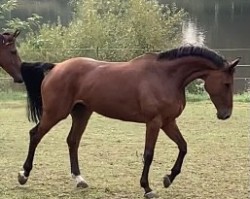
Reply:
[[[227,61],[211,49],[188,45],[160,53],[159,59],[179,60],[179,65],[186,65],[180,73],[180,76],[186,77],[184,86],[194,79],[203,79],[205,90],[217,109],[218,119],[224,120],[231,116],[234,71],[240,58]]]

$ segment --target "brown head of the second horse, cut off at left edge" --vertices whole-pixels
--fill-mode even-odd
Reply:
[[[13,77],[14,82],[22,83],[21,59],[16,49],[16,38],[19,34],[19,30],[0,34],[0,66]]]

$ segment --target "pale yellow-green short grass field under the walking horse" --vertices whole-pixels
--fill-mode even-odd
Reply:
[[[219,121],[210,101],[189,102],[178,119],[188,143],[182,173],[170,188],[162,177],[177,157],[177,147],[163,133],[150,171],[153,189],[164,199],[247,199],[249,192],[249,103],[235,103],[233,116]],[[26,158],[28,131],[24,101],[0,104],[0,198],[135,199],[143,198],[144,125],[93,115],[79,151],[82,174],[90,187],[75,188],[65,142],[71,120],[62,121],[37,148],[27,185],[17,173]]]

